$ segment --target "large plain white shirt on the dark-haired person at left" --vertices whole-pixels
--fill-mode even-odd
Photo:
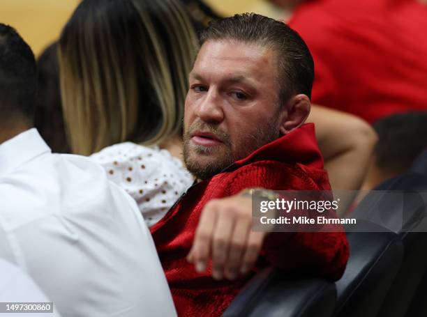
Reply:
[[[135,201],[89,158],[52,154],[35,129],[0,145],[0,258],[63,317],[176,316]]]

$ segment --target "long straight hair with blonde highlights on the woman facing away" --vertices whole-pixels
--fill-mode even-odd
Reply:
[[[182,132],[197,49],[174,0],[84,0],[59,40],[61,99],[73,153]]]

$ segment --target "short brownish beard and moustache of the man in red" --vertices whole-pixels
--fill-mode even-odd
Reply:
[[[214,134],[219,141],[223,142],[220,146],[225,148],[225,153],[221,157],[218,157],[217,160],[212,160],[204,164],[197,162],[197,158],[192,159],[192,153],[197,154],[199,157],[209,157],[218,151],[217,146],[209,147],[190,144],[191,134],[197,130]],[[206,180],[207,178],[211,178],[212,176],[220,173],[235,161],[241,160],[250,153],[253,153],[257,148],[278,139],[279,136],[280,132],[278,122],[276,121],[275,123],[270,123],[265,127],[255,130],[252,134],[247,134],[246,137],[241,139],[242,144],[239,148],[242,150],[240,150],[239,153],[232,153],[234,144],[232,144],[229,134],[219,130],[218,125],[196,121],[190,125],[183,134],[183,159],[186,164],[186,168],[193,174],[193,176],[195,176],[195,178],[199,180]]]

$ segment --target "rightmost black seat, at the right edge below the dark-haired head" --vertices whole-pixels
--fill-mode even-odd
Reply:
[[[378,313],[381,317],[403,317],[427,268],[427,200],[425,193],[418,192],[427,190],[427,176],[404,173],[375,190],[384,192],[371,192],[354,214],[395,231],[403,242],[403,263]]]

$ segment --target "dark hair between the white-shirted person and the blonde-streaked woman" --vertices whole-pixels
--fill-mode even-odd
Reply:
[[[70,153],[63,124],[59,91],[58,44],[49,45],[37,59],[38,91],[34,126],[55,153]]]

